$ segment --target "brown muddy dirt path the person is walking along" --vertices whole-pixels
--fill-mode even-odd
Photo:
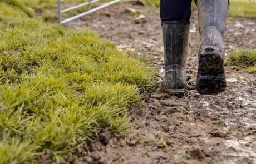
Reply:
[[[126,12],[128,7],[142,11],[147,22],[134,23],[134,16]],[[118,4],[67,26],[90,27],[124,51],[153,57],[152,65],[163,76],[158,11]],[[229,23],[224,38],[227,54],[239,46],[256,48],[255,31],[255,20],[239,18]],[[85,163],[256,163],[256,76],[226,67],[227,91],[217,96],[199,95],[195,90],[198,42],[197,14],[193,11],[186,96],[146,93],[144,102],[130,109],[133,133],[125,138],[102,132],[101,142],[83,155]]]

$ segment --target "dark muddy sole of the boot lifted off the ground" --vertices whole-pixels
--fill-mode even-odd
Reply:
[[[200,94],[216,95],[227,86],[223,56],[214,48],[199,55],[197,90]]]

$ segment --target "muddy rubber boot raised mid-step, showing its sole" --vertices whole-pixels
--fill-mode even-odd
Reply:
[[[197,90],[201,94],[225,91],[223,34],[228,0],[198,0],[200,32]]]

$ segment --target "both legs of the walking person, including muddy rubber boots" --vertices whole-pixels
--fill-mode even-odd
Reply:
[[[191,3],[191,0],[161,0],[165,88],[172,95],[184,95]],[[202,94],[216,94],[226,87],[223,34],[229,0],[197,0],[196,4],[200,33],[197,90]]]

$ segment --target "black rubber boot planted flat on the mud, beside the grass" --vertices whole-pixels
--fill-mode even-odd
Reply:
[[[162,21],[165,89],[170,95],[184,96],[189,22]]]

